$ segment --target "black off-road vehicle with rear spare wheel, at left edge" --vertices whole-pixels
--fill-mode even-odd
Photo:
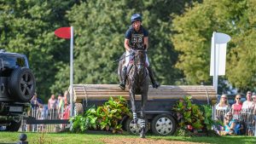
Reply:
[[[0,50],[0,127],[17,131],[26,116],[36,82],[26,55]]]

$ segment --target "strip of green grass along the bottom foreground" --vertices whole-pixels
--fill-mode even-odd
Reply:
[[[27,141],[29,143],[39,143],[42,133],[26,133]],[[0,132],[0,143],[15,143],[19,140],[19,132]],[[69,133],[58,133],[58,134],[44,134],[44,143],[53,144],[101,144],[102,138],[115,139],[115,138],[138,138],[137,135],[112,135],[108,133],[96,133],[96,134],[69,134]],[[256,137],[252,136],[222,136],[222,137],[181,137],[181,136],[155,136],[147,135],[147,138],[153,140],[164,139],[166,141],[191,141],[196,143],[226,143],[226,144],[255,144]]]

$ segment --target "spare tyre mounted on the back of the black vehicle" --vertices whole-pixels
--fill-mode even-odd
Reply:
[[[35,93],[35,88],[35,77],[29,68],[18,67],[11,73],[9,93],[16,101],[30,101]]]

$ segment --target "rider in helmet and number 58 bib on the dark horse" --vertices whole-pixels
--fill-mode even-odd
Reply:
[[[134,54],[135,49],[148,50],[148,31],[142,26],[142,16],[140,14],[133,14],[131,16],[131,26],[125,33],[125,66],[122,69],[121,77],[122,82],[119,84],[121,89],[125,89],[126,72],[129,61],[132,58],[131,54]],[[128,56],[130,55],[130,56]],[[151,79],[153,88],[157,89],[160,84],[154,80],[153,70],[149,66],[148,55],[146,56],[146,65],[148,66],[148,74]]]

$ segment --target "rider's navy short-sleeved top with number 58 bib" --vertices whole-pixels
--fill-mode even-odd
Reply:
[[[125,32],[125,38],[129,39],[131,49],[143,49],[144,37],[148,37],[148,31],[143,26],[138,32],[132,26]]]

